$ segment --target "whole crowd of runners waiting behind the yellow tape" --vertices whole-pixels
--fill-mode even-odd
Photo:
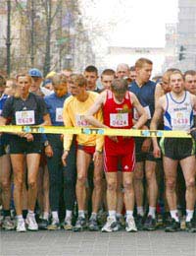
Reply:
[[[106,69],[101,89],[94,66],[83,74],[51,72],[44,81],[35,68],[0,77],[0,125],[193,131],[161,140],[1,133],[2,228],[135,232],[155,230],[162,214],[165,230],[177,231],[184,195],[185,229],[196,232],[196,71],[173,68],[153,81],[152,70],[146,58]]]

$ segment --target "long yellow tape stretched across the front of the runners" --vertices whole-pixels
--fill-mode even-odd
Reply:
[[[19,126],[2,125],[0,132],[26,132],[26,133],[50,133],[50,134],[98,134],[108,136],[132,136],[132,137],[166,137],[166,138],[190,138],[184,131],[163,131],[163,130],[135,130],[135,129],[103,129],[103,128],[82,128],[64,126]]]

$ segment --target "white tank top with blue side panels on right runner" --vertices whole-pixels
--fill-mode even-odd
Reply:
[[[164,129],[189,131],[194,125],[190,93],[185,91],[181,101],[172,98],[171,93],[166,94],[166,97],[167,108],[164,113]]]

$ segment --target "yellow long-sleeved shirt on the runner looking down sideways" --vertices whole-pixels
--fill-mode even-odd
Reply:
[[[68,97],[63,108],[63,120],[65,126],[90,127],[90,125],[83,119],[82,115],[93,105],[97,96],[99,96],[97,93],[88,92],[88,97],[85,101],[79,101],[75,96]],[[102,110],[99,110],[94,116],[99,121],[103,122]],[[64,150],[70,150],[72,141],[73,135],[64,136]],[[100,135],[79,134],[76,135],[76,142],[83,146],[96,146],[97,151],[102,151],[104,138]]]

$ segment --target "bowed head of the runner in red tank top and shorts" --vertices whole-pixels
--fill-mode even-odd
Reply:
[[[127,88],[128,83],[125,79],[114,79],[111,85],[111,91],[113,92],[115,98],[120,102],[123,101]]]

